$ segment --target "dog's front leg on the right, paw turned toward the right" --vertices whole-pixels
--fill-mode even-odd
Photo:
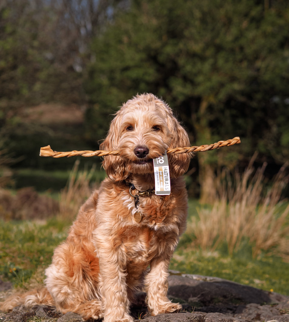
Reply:
[[[168,267],[170,258],[156,258],[150,263],[150,272],[145,278],[146,301],[151,315],[178,312],[182,309],[179,303],[172,303],[168,297]]]

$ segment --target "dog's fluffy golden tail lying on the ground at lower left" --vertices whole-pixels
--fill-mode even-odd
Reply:
[[[54,300],[46,287],[42,289],[32,289],[25,293],[15,293],[9,296],[4,302],[0,303],[0,310],[3,312],[11,311],[15,306],[24,305],[55,305]]]

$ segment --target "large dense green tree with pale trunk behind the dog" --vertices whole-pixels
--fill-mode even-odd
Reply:
[[[283,162],[288,20],[283,1],[132,1],[93,42],[85,86],[91,111],[99,117],[136,92],[153,92],[178,111],[192,142],[242,137],[227,162],[218,152],[221,166],[255,149]],[[203,202],[215,195],[215,163],[213,151],[198,155]]]

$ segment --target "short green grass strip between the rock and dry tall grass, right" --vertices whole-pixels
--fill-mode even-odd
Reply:
[[[243,285],[289,295],[289,264],[278,257],[252,259],[202,251],[176,250],[170,268],[186,274],[228,279]]]

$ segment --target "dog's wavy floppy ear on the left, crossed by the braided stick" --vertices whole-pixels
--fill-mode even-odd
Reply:
[[[105,140],[101,143],[100,149],[106,151],[117,150],[119,142],[120,117],[118,111],[110,123],[109,131]],[[115,181],[125,180],[128,176],[124,162],[119,156],[104,156],[102,166],[110,179]]]

